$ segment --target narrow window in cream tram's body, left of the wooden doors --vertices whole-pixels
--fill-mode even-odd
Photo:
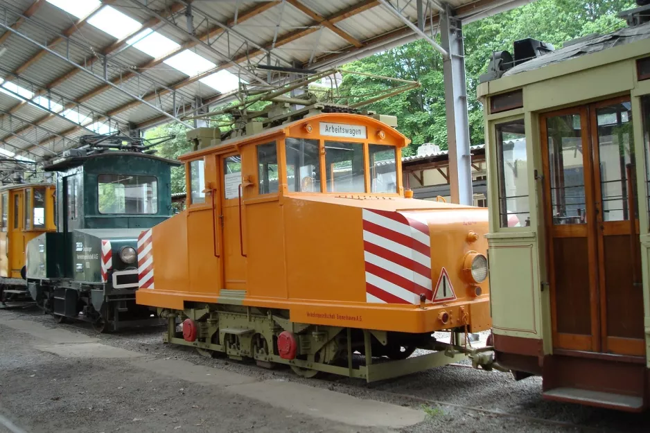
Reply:
[[[530,224],[524,119],[496,126],[500,227]]]

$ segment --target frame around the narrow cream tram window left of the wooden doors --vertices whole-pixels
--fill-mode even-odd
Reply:
[[[511,232],[511,231],[529,231],[531,229],[531,227],[534,225],[534,209],[532,207],[532,200],[531,200],[531,195],[532,195],[532,193],[534,193],[534,184],[531,184],[530,182],[528,182],[528,191],[527,191],[527,195],[525,195],[525,197],[527,197],[528,213],[529,213],[529,218],[531,219],[531,227],[526,227],[524,224],[520,225],[520,227],[508,227],[507,225],[505,227],[502,226],[502,215],[501,215],[501,211],[502,211],[502,204],[501,204],[501,199],[502,199],[502,197],[501,197],[501,194],[502,194],[502,189],[501,189],[502,188],[502,182],[501,182],[502,169],[501,168],[502,168],[502,165],[503,165],[502,164],[502,151],[501,151],[502,143],[499,143],[498,140],[497,140],[497,138],[498,138],[497,128],[500,125],[505,125],[507,123],[513,123],[513,122],[517,122],[517,121],[522,121],[523,124],[524,124],[524,130],[525,130],[525,132],[524,132],[525,137],[524,138],[526,139],[526,161],[527,161],[527,164],[528,164],[528,169],[526,170],[525,175],[527,177],[529,177],[528,172],[533,167],[532,164],[534,164],[534,155],[531,154],[531,152],[529,152],[529,147],[530,147],[529,141],[530,140],[529,140],[529,134],[527,133],[527,130],[529,128],[529,125],[527,124],[527,118],[524,115],[519,114],[519,115],[513,115],[513,116],[500,117],[500,118],[497,118],[497,119],[494,119],[494,120],[490,121],[490,123],[489,123],[489,125],[490,125],[489,139],[490,139],[491,143],[493,143],[493,145],[491,145],[490,148],[489,148],[489,152],[494,152],[495,157],[489,158],[489,159],[491,159],[491,162],[489,163],[489,164],[491,164],[491,169],[488,172],[488,182],[489,182],[489,186],[490,185],[493,186],[493,188],[489,188],[493,192],[490,193],[489,197],[486,197],[486,198],[488,200],[488,203],[493,202],[493,203],[496,204],[495,206],[488,206],[488,208],[490,209],[490,211],[492,213],[492,217],[493,217],[492,220],[494,222],[494,226],[491,228],[491,231],[508,231],[508,232]],[[530,179],[528,179],[528,181],[529,180]],[[531,191],[531,188],[533,188],[533,191]],[[522,197],[524,197],[524,196],[522,196]],[[506,209],[506,212],[507,212],[507,209]]]

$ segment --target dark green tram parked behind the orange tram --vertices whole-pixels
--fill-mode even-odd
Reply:
[[[100,332],[159,324],[135,303],[140,233],[172,215],[170,168],[155,143],[128,136],[82,137],[44,170],[57,175],[57,231],[27,245],[27,287],[58,321]]]

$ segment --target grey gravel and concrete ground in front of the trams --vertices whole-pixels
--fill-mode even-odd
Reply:
[[[366,384],[304,379],[0,310],[0,433],[650,431],[650,416],[541,399],[538,378],[446,366]]]

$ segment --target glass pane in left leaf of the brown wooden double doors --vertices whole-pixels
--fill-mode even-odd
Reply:
[[[553,224],[586,224],[580,114],[547,118]]]

